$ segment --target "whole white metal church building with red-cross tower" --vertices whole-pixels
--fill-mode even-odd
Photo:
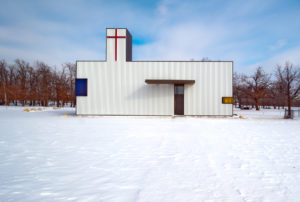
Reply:
[[[233,61],[132,61],[129,31],[106,35],[106,60],[76,62],[77,115],[232,116]]]

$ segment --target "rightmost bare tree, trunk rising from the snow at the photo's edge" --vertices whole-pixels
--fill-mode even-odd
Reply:
[[[277,66],[276,78],[280,92],[288,105],[286,118],[291,118],[292,103],[300,94],[300,69],[295,69],[291,63],[286,62],[284,67]]]

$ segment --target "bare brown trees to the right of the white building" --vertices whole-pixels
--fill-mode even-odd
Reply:
[[[300,106],[300,69],[286,62],[277,65],[273,74],[258,67],[252,75],[234,73],[233,94],[235,105],[280,108],[287,106],[288,117],[291,107]]]

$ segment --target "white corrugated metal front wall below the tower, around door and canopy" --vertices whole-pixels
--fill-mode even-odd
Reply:
[[[174,85],[149,85],[145,79],[184,79],[195,80],[184,87],[185,115],[232,115],[232,105],[222,104],[222,97],[232,97],[232,65],[79,61],[77,78],[88,79],[88,96],[77,96],[77,114],[173,115]]]

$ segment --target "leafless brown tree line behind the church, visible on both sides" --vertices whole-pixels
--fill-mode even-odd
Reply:
[[[75,64],[66,63],[57,70],[44,62],[34,65],[24,60],[14,64],[0,61],[0,104],[56,106],[76,105]],[[252,75],[234,73],[235,105],[280,108],[300,106],[300,69],[286,62],[278,65],[273,74],[258,67]]]

